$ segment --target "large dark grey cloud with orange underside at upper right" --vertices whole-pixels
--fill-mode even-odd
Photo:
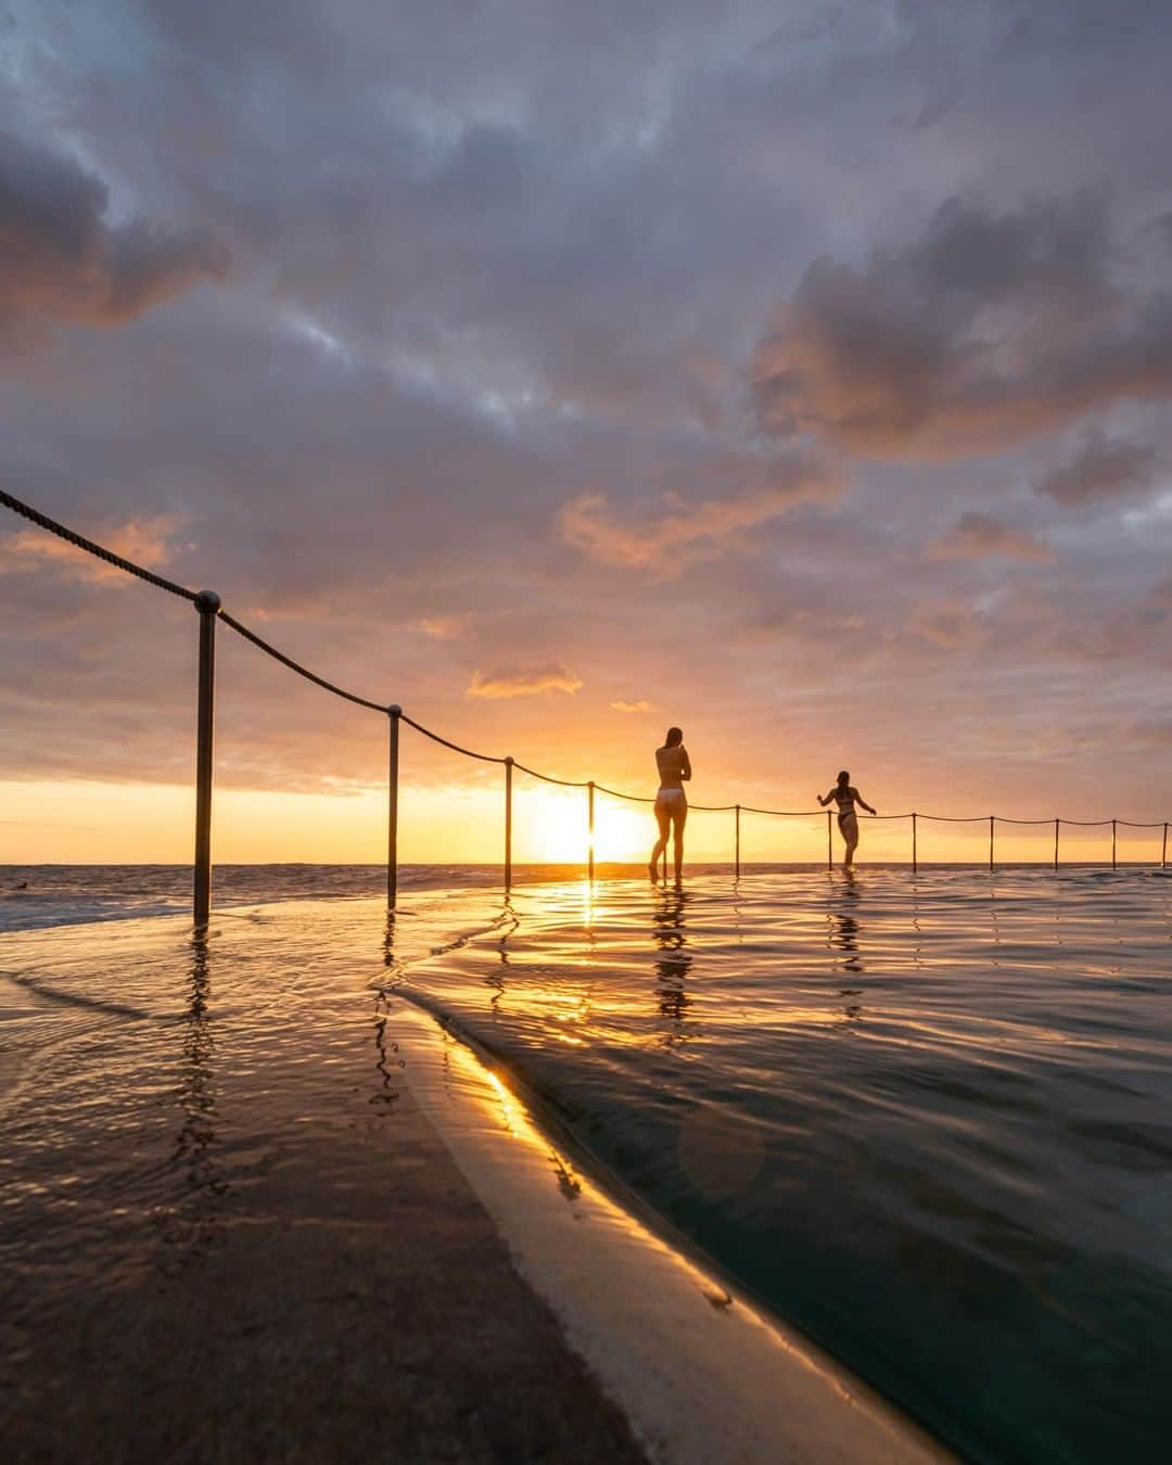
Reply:
[[[1172,292],[1124,274],[1097,195],[1001,214],[949,199],[901,251],[807,267],[754,355],[759,418],[857,454],[952,457],[1172,397]]]

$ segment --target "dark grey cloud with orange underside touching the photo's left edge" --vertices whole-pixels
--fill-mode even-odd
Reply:
[[[72,158],[0,133],[0,337],[38,321],[116,325],[226,275],[208,233],[145,218],[111,227],[107,202]]]

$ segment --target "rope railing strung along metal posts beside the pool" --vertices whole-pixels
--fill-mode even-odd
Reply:
[[[92,539],[86,539],[84,535],[76,533],[76,530],[69,529],[66,524],[59,523],[56,519],[50,519],[48,514],[42,514],[40,510],[34,508],[31,504],[15,498],[12,494],[0,489],[0,507],[12,510],[15,514],[29,520],[40,529],[56,535],[66,544],[84,551],[85,554],[94,555],[98,560],[123,570],[126,574],[132,574],[146,585],[152,585],[157,589],[167,590],[170,595],[180,596],[189,601],[196,612],[199,614],[199,674],[198,674],[198,709],[196,709],[196,831],[195,831],[195,920],[196,923],[204,923],[211,914],[211,790],[212,790],[212,731],[214,731],[214,697],[215,697],[215,623],[223,621],[226,626],[231,627],[245,640],[251,642],[258,650],[262,650],[267,656],[280,662],[289,671],[314,683],[314,686],[321,687],[324,691],[331,693],[335,697],[343,697],[356,706],[366,708],[371,712],[378,712],[388,718],[390,722],[390,757],[388,757],[388,828],[387,828],[387,900],[394,905],[398,889],[398,728],[401,722],[419,732],[422,737],[431,740],[440,747],[445,747],[453,753],[459,753],[461,757],[472,757],[482,763],[497,763],[504,768],[505,772],[505,810],[504,810],[504,883],[505,889],[511,886],[513,882],[513,772],[514,769],[520,774],[526,774],[529,778],[536,778],[544,784],[552,784],[560,788],[585,788],[587,793],[587,825],[589,825],[589,839],[587,839],[587,869],[590,878],[595,873],[595,794],[607,794],[609,798],[626,800],[627,803],[637,804],[653,804],[655,798],[646,794],[628,794],[618,788],[609,788],[605,784],[599,784],[595,779],[570,779],[557,778],[552,774],[544,774],[536,768],[530,768],[526,763],[519,763],[511,756],[500,756],[494,753],[479,753],[475,749],[464,747],[460,743],[451,741],[451,738],[442,737],[432,728],[425,727],[415,718],[407,716],[407,713],[396,703],[382,703],[371,697],[359,696],[356,691],[347,691],[344,687],[337,686],[337,683],[328,681],[325,677],[319,677],[316,672],[303,667],[300,662],[287,656],[283,650],[278,650],[264,637],[258,636],[253,630],[239,621],[234,615],[230,615],[221,605],[220,596],[211,590],[189,590],[186,586],[177,585],[173,580],[167,580],[161,574],[155,574],[152,570],[146,570],[141,564],[135,564],[132,560],[126,560],[113,549],[107,549],[104,545],[97,544]],[[735,816],[735,839],[734,839],[734,867],[737,876],[741,870],[741,815],[763,815],[766,817],[776,819],[815,819],[823,813],[817,809],[763,809],[754,804],[690,804],[690,809],[696,813],[731,813]],[[826,860],[828,866],[834,866],[834,822],[829,809],[825,810],[826,816]],[[1071,825],[1075,828],[1102,828],[1110,825],[1110,864],[1112,869],[1118,867],[1118,829],[1163,829],[1163,844],[1160,850],[1160,867],[1168,866],[1168,820],[1149,820],[1137,822],[1132,819],[1015,819],[1008,815],[921,815],[917,810],[910,813],[898,815],[875,815],[879,820],[911,820],[911,867],[919,869],[919,820],[927,819],[933,823],[986,823],[989,825],[989,869],[993,869],[993,835],[995,826],[998,823],[1006,825],[1052,825],[1053,826],[1053,867],[1058,869],[1059,857],[1059,828],[1061,825]],[[667,851],[664,851],[664,872],[667,873]]]

